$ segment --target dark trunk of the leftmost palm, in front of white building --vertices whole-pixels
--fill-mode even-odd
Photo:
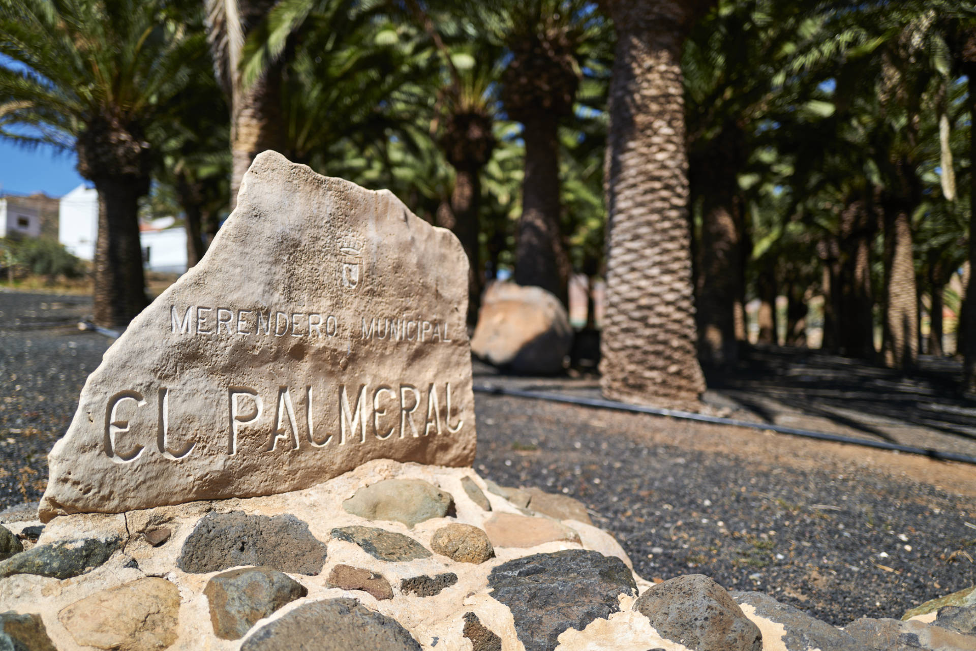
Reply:
[[[148,302],[139,240],[139,198],[146,181],[101,177],[99,234],[95,244],[95,323],[117,328],[129,322]]]

